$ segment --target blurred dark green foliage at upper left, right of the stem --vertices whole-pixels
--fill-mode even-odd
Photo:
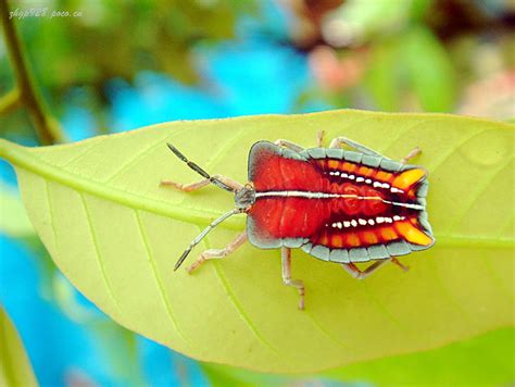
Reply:
[[[62,96],[72,86],[88,84],[103,95],[106,80],[131,79],[141,70],[197,82],[196,42],[233,38],[237,15],[252,5],[239,0],[60,0],[46,7],[46,17],[16,22],[41,85]],[[81,15],[51,18],[55,10]],[[0,68],[0,79],[5,70]]]

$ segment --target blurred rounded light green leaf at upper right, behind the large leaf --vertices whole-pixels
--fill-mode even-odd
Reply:
[[[380,110],[451,112],[454,109],[454,67],[429,29],[416,26],[379,40],[369,63],[365,83]]]

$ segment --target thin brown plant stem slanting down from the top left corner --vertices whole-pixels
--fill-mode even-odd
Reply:
[[[36,132],[42,145],[62,142],[64,136],[59,123],[48,113],[32,80],[27,63],[22,52],[22,45],[13,20],[9,16],[8,0],[0,0],[0,20],[5,35],[5,46],[13,65],[14,76],[22,102],[28,109]]]

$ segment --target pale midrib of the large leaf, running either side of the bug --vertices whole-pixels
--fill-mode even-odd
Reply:
[[[219,212],[203,209],[202,211],[189,208],[184,204],[164,203],[158,200],[151,200],[146,197],[115,189],[89,178],[73,174],[68,171],[62,171],[56,166],[41,160],[24,147],[0,139],[0,157],[7,159],[12,164],[25,168],[38,176],[61,183],[77,191],[87,192],[98,198],[106,199],[120,203],[134,210],[143,210],[156,215],[176,219],[181,222],[196,225],[206,225],[214,217],[221,215]],[[227,229],[241,230],[244,228],[244,217],[231,217],[221,224],[221,227]],[[481,238],[478,236],[464,236],[457,234],[438,235],[438,244],[448,247],[498,247],[510,248],[515,246],[515,240],[511,238]]]

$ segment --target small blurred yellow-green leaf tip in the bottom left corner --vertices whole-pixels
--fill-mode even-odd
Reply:
[[[37,386],[33,367],[25,353],[22,340],[0,307],[0,386]]]

